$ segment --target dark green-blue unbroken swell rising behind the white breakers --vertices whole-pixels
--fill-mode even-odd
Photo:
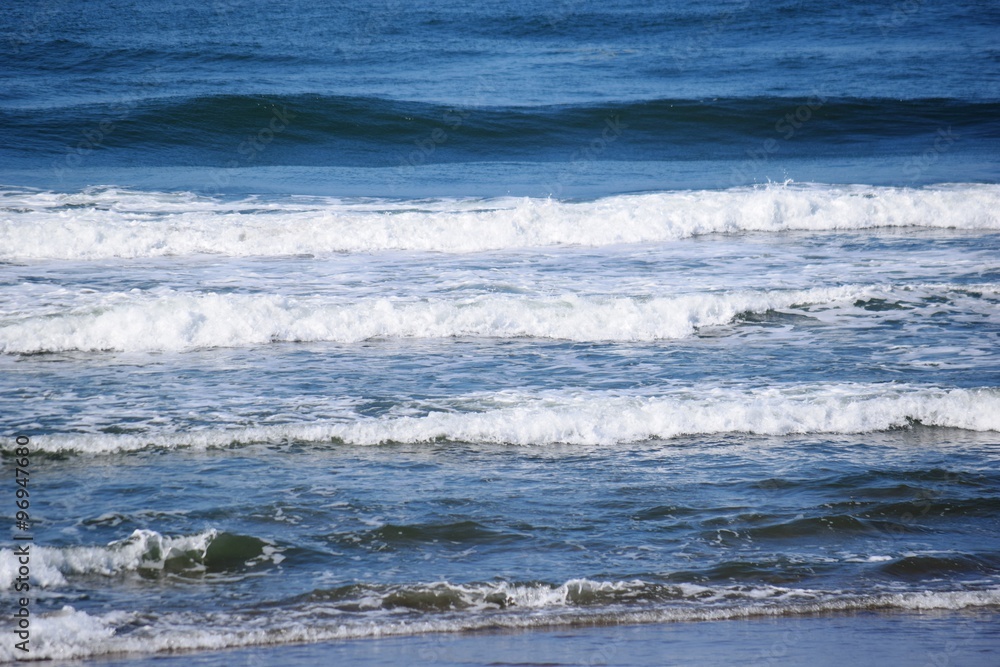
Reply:
[[[856,152],[883,140],[880,152],[898,153],[907,138],[923,147],[942,128],[964,142],[997,140],[998,115],[998,102],[819,94],[549,106],[226,94],[0,109],[0,140],[21,156],[60,156],[103,122],[92,164],[127,164],[140,152],[162,166],[745,159],[768,139],[783,156]]]

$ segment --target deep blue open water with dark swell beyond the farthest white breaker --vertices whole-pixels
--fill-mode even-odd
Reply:
[[[993,182],[997,11],[15,2],[0,176],[388,196]]]

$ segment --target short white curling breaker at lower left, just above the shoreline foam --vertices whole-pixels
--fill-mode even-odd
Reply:
[[[154,530],[136,530],[129,537],[107,546],[31,548],[31,584],[42,588],[66,585],[67,575],[111,576],[137,570],[163,570],[174,559],[184,559],[188,568],[204,570],[209,549],[220,533],[207,530],[196,535],[167,537]],[[251,538],[253,539],[253,538]],[[247,560],[280,562],[283,556],[273,545],[259,542],[259,553],[246,554]],[[11,549],[0,549],[0,585],[10,588],[18,572],[18,560]]]

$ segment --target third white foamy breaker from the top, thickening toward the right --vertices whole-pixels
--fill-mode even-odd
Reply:
[[[926,426],[1000,431],[1000,389],[831,384],[769,389],[493,394],[453,401],[423,416],[324,421],[147,434],[38,435],[36,448],[114,453],[274,442],[351,445],[437,441],[512,445],[611,445],[689,435],[866,433]]]

